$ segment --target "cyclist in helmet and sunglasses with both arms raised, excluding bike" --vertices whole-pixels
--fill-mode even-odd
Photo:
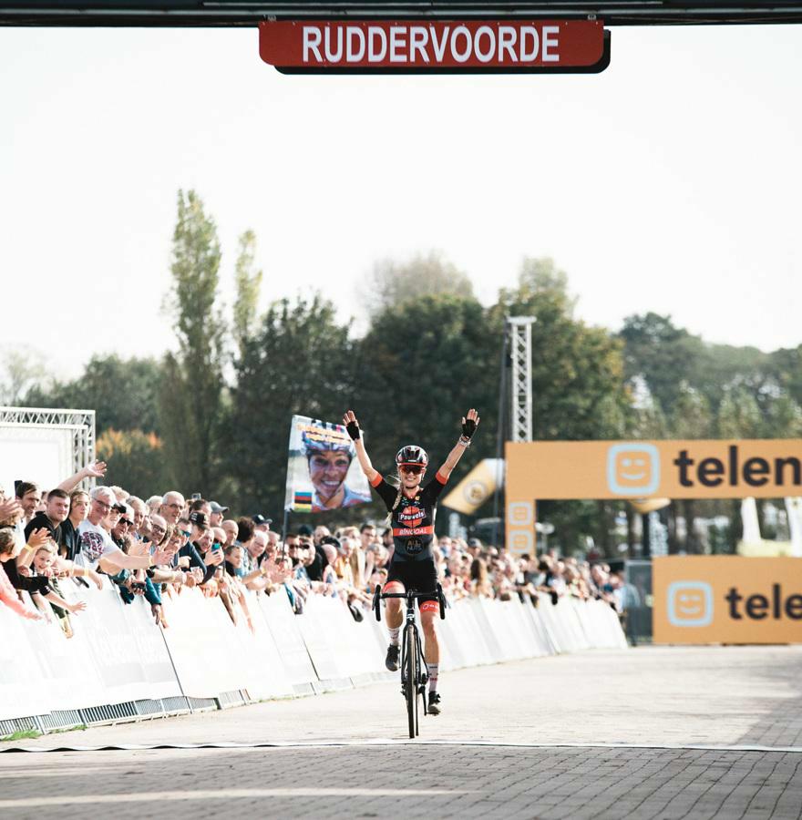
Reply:
[[[439,612],[437,601],[437,565],[432,553],[432,541],[435,534],[435,507],[437,498],[446,486],[451,471],[457,466],[462,454],[470,446],[471,436],[476,432],[479,416],[471,407],[468,414],[462,417],[462,435],[452,448],[437,473],[426,485],[429,458],[426,450],[417,445],[401,447],[396,455],[398,470],[398,487],[388,483],[381,473],[375,470],[365,450],[359,423],[353,410],[343,416],[343,424],[348,435],[354,440],[356,457],[378,495],[385,502],[389,512],[389,523],[393,529],[393,559],[387,568],[386,592],[404,592],[406,588],[418,592],[431,590],[431,598],[418,600],[420,622],[423,627],[426,647],[424,654],[427,661],[429,678],[428,713],[439,714],[442,702],[437,692],[437,676],[440,662],[440,648],[437,643],[436,618]],[[390,645],[387,648],[386,667],[390,671],[398,669],[400,656],[400,631],[404,620],[401,599],[387,600],[386,622],[390,633]]]

